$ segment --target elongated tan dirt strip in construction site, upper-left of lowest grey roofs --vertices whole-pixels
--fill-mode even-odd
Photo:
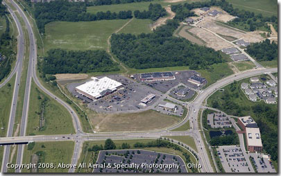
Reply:
[[[203,39],[207,43],[207,47],[210,47],[216,51],[232,46],[228,42],[223,41],[223,39],[216,37],[216,35],[204,30],[203,28],[191,28],[189,31]]]

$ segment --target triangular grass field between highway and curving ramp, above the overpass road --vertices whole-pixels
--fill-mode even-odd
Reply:
[[[44,99],[47,98],[44,105]],[[72,119],[65,107],[62,107],[56,100],[46,96],[32,82],[31,102],[28,110],[28,125],[26,134],[70,134],[74,133]],[[44,114],[44,127],[40,128],[40,115]]]

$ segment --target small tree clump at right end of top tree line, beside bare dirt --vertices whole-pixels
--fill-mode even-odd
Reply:
[[[160,17],[167,15],[167,12],[159,3],[151,3],[148,11],[144,10],[140,12],[139,10],[135,10],[134,15],[137,19],[152,19],[156,21]]]

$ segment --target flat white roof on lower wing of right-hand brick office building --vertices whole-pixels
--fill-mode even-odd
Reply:
[[[258,127],[246,127],[246,138],[248,146],[262,147],[262,139],[260,138]]]

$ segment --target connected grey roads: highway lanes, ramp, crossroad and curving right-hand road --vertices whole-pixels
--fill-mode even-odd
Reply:
[[[30,56],[29,56],[29,62],[28,62],[28,76],[26,79],[26,91],[24,96],[24,111],[22,114],[22,122],[21,122],[21,130],[20,130],[20,137],[12,137],[12,128],[15,120],[15,109],[17,107],[17,95],[18,95],[18,89],[19,89],[19,81],[22,74],[22,59],[24,58],[24,34],[22,32],[22,26],[19,24],[19,21],[17,17],[15,16],[15,13],[11,11],[11,14],[13,16],[13,19],[16,21],[17,28],[19,30],[19,38],[22,37],[22,42],[19,42],[19,48],[18,48],[18,57],[17,62],[19,63],[16,67],[16,84],[14,89],[14,94],[12,98],[13,106],[11,108],[10,112],[10,119],[9,119],[9,125],[8,125],[8,133],[7,137],[1,138],[0,143],[7,143],[7,142],[31,142],[31,141],[74,141],[75,147],[74,147],[74,155],[71,159],[71,164],[77,164],[78,158],[80,157],[80,152],[82,150],[83,141],[95,141],[95,140],[104,140],[104,139],[158,139],[163,136],[186,136],[189,135],[193,137],[196,142],[196,146],[198,148],[198,155],[199,163],[202,165],[201,172],[207,172],[212,173],[215,170],[212,170],[212,166],[210,164],[210,159],[207,156],[207,150],[204,147],[203,139],[201,137],[201,129],[203,129],[202,126],[202,119],[201,119],[201,126],[198,125],[198,112],[199,109],[201,109],[202,105],[204,104],[204,100],[209,97],[211,94],[214,93],[217,89],[224,87],[225,85],[230,84],[234,80],[241,80],[243,78],[248,78],[251,76],[256,76],[259,74],[264,73],[271,73],[278,71],[277,68],[273,69],[265,69],[264,67],[259,67],[257,65],[257,69],[252,69],[244,72],[235,73],[232,76],[228,76],[227,78],[223,78],[222,80],[217,81],[210,87],[207,87],[203,91],[200,91],[196,99],[192,103],[187,103],[186,107],[189,109],[189,112],[187,114],[187,117],[178,123],[177,125],[173,125],[173,127],[167,127],[166,129],[162,130],[154,130],[154,131],[146,131],[146,132],[103,132],[103,133],[95,133],[95,134],[87,134],[83,132],[80,121],[78,118],[78,115],[76,112],[65,103],[60,98],[53,95],[48,89],[43,87],[41,84],[39,78],[37,78],[36,75],[36,64],[37,64],[37,45],[35,42],[35,36],[33,33],[33,28],[31,27],[30,22],[28,21],[28,17],[26,17],[25,13],[17,3],[14,1],[10,1],[12,3],[12,6],[17,8],[17,11],[19,12],[19,15],[24,19],[25,26],[28,30],[28,37],[30,40]],[[8,8],[10,9],[10,8]],[[22,55],[21,50],[22,49]],[[22,58],[19,57],[21,55]],[[58,101],[61,105],[63,105],[69,114],[71,114],[72,121],[74,124],[74,128],[76,130],[76,134],[65,134],[65,135],[49,135],[49,136],[25,136],[26,132],[26,122],[27,122],[27,114],[28,114],[28,104],[29,104],[29,95],[30,95],[30,86],[31,86],[31,80],[35,81],[35,84],[42,89],[46,94],[48,94],[51,98],[54,98]],[[177,127],[180,127],[181,125],[185,124],[188,120],[190,120],[190,126],[191,130],[188,131],[182,131],[182,132],[171,132],[170,130],[173,130]],[[17,164],[22,163],[22,157],[23,157],[23,151],[24,147],[22,145],[19,145],[18,152],[17,152]],[[6,172],[6,164],[8,163],[8,157],[10,154],[10,146],[5,146],[4,148],[4,157],[2,161],[2,169],[1,171],[3,173]],[[21,170],[16,170],[17,172],[21,172]],[[74,169],[69,169],[69,173],[73,173]]]

